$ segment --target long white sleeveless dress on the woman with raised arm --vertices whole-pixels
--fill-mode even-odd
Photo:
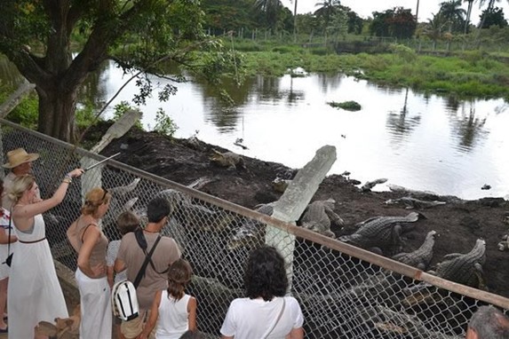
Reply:
[[[53,323],[57,317],[68,318],[68,309],[45,240],[43,215],[34,217],[30,234],[14,229],[19,241],[12,257],[7,292],[9,337],[29,339],[34,337],[39,321]]]

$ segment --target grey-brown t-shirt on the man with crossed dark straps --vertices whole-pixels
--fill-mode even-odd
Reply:
[[[147,239],[148,253],[159,234],[144,233],[144,235]],[[179,259],[180,256],[181,253],[177,242],[169,237],[162,237],[152,255],[152,263],[154,263],[155,270],[152,268],[151,264],[147,264],[145,276],[141,279],[138,288],[136,288],[139,309],[149,310],[154,301],[155,292],[168,287],[168,275],[166,270],[168,266]],[[145,260],[145,253],[143,253],[143,250],[139,247],[134,233],[127,233],[123,236],[116,257],[125,263],[127,267],[127,279],[134,282],[138,275],[139,268]]]

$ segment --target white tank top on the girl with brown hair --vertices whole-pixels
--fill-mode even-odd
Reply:
[[[189,327],[187,320],[187,303],[191,296],[184,295],[179,301],[170,296],[168,291],[161,293],[161,302],[159,303],[159,319],[155,336],[159,339],[179,339]]]

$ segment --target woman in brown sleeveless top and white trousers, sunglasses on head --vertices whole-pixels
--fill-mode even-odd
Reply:
[[[76,281],[80,291],[80,338],[111,338],[112,311],[107,282],[107,237],[99,226],[109,207],[111,194],[93,188],[85,195],[82,214],[70,225],[68,240],[78,253]]]

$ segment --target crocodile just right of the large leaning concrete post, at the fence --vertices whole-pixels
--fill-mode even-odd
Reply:
[[[300,225],[314,232],[336,238],[336,234],[330,231],[330,224],[342,226],[345,225],[345,222],[334,212],[335,204],[336,201],[333,199],[310,203],[304,210]]]

